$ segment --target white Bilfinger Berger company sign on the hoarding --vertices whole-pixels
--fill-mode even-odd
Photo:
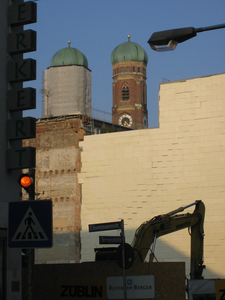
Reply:
[[[153,275],[127,276],[127,298],[155,298]],[[107,299],[123,299],[123,277],[107,277]]]

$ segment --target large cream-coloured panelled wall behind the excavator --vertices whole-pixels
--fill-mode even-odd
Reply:
[[[159,128],[86,136],[81,153],[81,261],[95,259],[88,224],[124,219],[131,243],[143,221],[201,199],[205,278],[225,278],[225,73],[160,85]],[[185,212],[193,212],[194,206]],[[107,245],[106,245],[107,247]],[[159,261],[185,261],[187,229],[156,243]]]

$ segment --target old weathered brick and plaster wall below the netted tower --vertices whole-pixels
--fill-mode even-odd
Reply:
[[[80,125],[79,116],[38,119],[36,139],[24,141],[24,146],[36,147],[35,190],[41,193],[36,198],[53,203],[53,247],[37,249],[36,263],[79,262]]]

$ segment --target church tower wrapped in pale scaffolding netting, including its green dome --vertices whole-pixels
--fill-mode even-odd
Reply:
[[[44,71],[44,115],[62,116],[91,111],[91,70],[86,56],[76,48],[63,48]]]

